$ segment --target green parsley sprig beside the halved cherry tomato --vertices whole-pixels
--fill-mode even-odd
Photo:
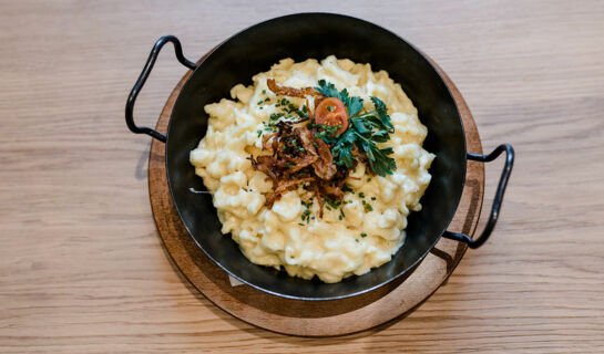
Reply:
[[[331,155],[336,164],[345,165],[348,168],[352,167],[355,164],[352,147],[356,145],[366,152],[369,165],[376,174],[379,176],[391,175],[397,169],[395,159],[389,157],[393,154],[392,147],[379,148],[376,144],[388,142],[390,133],[395,131],[386,104],[380,98],[372,96],[371,102],[375,110],[361,112],[361,97],[350,96],[346,88],[338,91],[332,83],[325,80],[319,80],[318,84],[315,90],[327,97],[340,100],[348,110],[349,128],[337,138],[328,135],[321,136],[326,143],[332,144]]]

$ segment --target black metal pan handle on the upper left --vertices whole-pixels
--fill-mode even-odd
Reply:
[[[166,136],[162,133],[152,129],[146,126],[136,126],[134,124],[134,117],[132,116],[132,112],[134,111],[134,103],[136,102],[136,96],[139,96],[139,92],[143,88],[146,79],[151,74],[151,70],[153,69],[153,65],[155,65],[155,60],[157,59],[157,55],[160,54],[160,51],[164,46],[165,43],[172,42],[174,44],[174,52],[176,53],[176,59],[181,64],[185,65],[186,67],[191,70],[197,69],[197,65],[184,58],[183,55],[183,48],[181,46],[181,41],[178,41],[177,38],[174,35],[164,35],[161,39],[155,42],[155,45],[153,45],[153,49],[151,50],[151,53],[149,54],[149,59],[146,60],[145,66],[143,67],[143,71],[141,72],[141,75],[139,75],[139,80],[136,80],[136,83],[134,84],[134,87],[132,87],[132,91],[130,92],[130,96],[127,97],[126,102],[126,124],[127,127],[132,133],[135,134],[146,134],[150,135],[157,140],[165,143]]]

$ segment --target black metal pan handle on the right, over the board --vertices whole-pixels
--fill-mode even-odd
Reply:
[[[491,207],[489,221],[487,221],[487,226],[484,227],[482,233],[475,240],[472,240],[472,238],[468,235],[452,231],[444,231],[442,237],[468,243],[468,247],[472,249],[481,247],[482,243],[484,243],[487,239],[489,239],[489,236],[491,236],[491,232],[495,227],[496,219],[499,218],[499,210],[501,209],[501,204],[503,202],[505,186],[508,185],[508,179],[510,179],[510,174],[512,173],[512,167],[514,165],[514,148],[510,144],[502,144],[489,155],[468,153],[468,159],[481,163],[490,163],[498,158],[499,155],[501,155],[501,153],[503,152],[505,152],[505,166],[503,166],[503,171],[501,173],[501,177],[499,178],[499,186],[496,188],[495,199],[493,200],[493,206]]]

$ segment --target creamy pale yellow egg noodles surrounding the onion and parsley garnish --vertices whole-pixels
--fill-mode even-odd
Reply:
[[[274,185],[252,166],[250,156],[266,155],[267,122],[281,112],[284,96],[269,90],[268,80],[289,87],[316,87],[323,80],[362,98],[366,111],[373,110],[371,96],[381,100],[393,129],[388,142],[377,145],[392,148],[396,169],[380,176],[368,164],[356,164],[346,175],[341,201],[327,200],[323,210],[304,184],[267,204]],[[233,100],[205,106],[207,133],[190,155],[195,174],[213,195],[222,232],[231,233],[256,264],[283,267],[291,277],[317,275],[328,283],[390,261],[405,242],[407,216],[421,209],[434,158],[422,148],[428,131],[400,84],[385,71],[372,72],[369,64],[335,56],[320,63],[284,59],[253,81],[250,86],[234,86]],[[304,97],[287,100],[305,110],[308,104]]]

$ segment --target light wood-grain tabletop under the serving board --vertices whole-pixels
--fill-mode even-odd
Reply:
[[[421,48],[464,94],[484,149],[518,153],[488,244],[408,317],[335,339],[252,327],[188,285],[153,223],[150,139],[123,119],[160,35],[196,59],[310,10]],[[603,35],[601,1],[1,1],[0,352],[603,353]],[[141,124],[183,73],[162,53]],[[487,168],[487,207],[500,166]]]

